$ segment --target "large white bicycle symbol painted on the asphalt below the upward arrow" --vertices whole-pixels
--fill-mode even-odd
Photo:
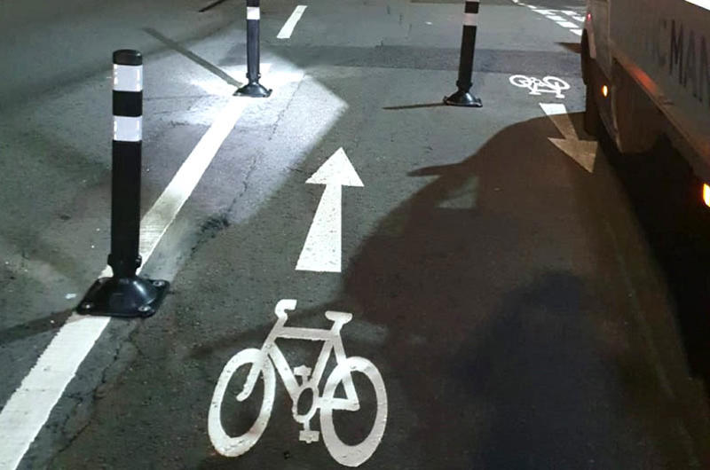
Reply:
[[[243,349],[225,364],[217,380],[217,386],[209,405],[208,433],[209,439],[217,452],[225,457],[238,457],[251,449],[266,429],[272,414],[276,377],[274,367],[279,372],[293,406],[291,413],[294,420],[303,426],[299,439],[305,443],[319,440],[319,432],[311,429],[311,419],[320,411],[320,432],[323,443],[331,457],[343,466],[359,466],[370,458],[383,439],[384,427],[387,424],[387,392],[384,388],[382,375],[369,360],[364,357],[345,356],[343,339],[340,331],[348,323],[350,313],[327,311],[325,316],[333,322],[330,330],[315,328],[297,328],[285,326],[288,320],[287,310],[296,309],[296,301],[281,300],[276,304],[274,313],[278,317],[271,333],[266,337],[261,349]],[[275,341],[279,338],[291,340],[323,341],[323,348],[313,369],[300,365],[291,370],[286,357],[280,351]],[[326,380],[323,393],[319,394],[319,383],[326,369],[331,352],[335,355],[335,368]],[[227,385],[241,366],[248,365],[248,375],[236,396],[226,396]],[[359,444],[343,443],[335,432],[333,411],[359,411],[360,403],[357,391],[352,382],[352,372],[359,372],[367,377],[375,389],[376,413],[375,422],[367,437]],[[300,381],[296,379],[300,378]],[[225,399],[237,402],[245,401],[256,386],[256,380],[261,377],[264,382],[264,398],[254,424],[246,433],[229,435],[223,427],[221,419],[222,403]],[[335,397],[335,389],[343,385],[345,397]],[[304,391],[312,392],[311,408],[305,413],[298,412],[298,400]]]

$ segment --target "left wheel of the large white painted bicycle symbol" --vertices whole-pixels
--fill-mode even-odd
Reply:
[[[227,385],[232,380],[234,373],[246,364],[251,364],[249,370],[251,367],[259,368],[259,376],[264,380],[264,401],[261,404],[255,423],[249,427],[246,433],[229,435],[222,424],[222,402],[225,399]],[[243,387],[243,384],[241,386]],[[256,444],[256,441],[264,434],[264,429],[266,429],[271,417],[275,389],[276,378],[273,372],[273,365],[262,351],[259,349],[243,349],[230,359],[219,375],[208,414],[209,440],[220,454],[225,457],[238,457]],[[252,388],[251,392],[253,390],[254,388]],[[243,392],[234,397],[234,399],[238,402],[243,402],[248,396],[242,395]]]

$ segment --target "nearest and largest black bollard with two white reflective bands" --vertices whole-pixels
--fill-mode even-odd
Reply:
[[[140,171],[143,141],[143,58],[138,51],[114,52],[114,139],[111,176],[113,277],[99,278],[79,304],[79,313],[149,317],[160,306],[168,282],[141,278]]]

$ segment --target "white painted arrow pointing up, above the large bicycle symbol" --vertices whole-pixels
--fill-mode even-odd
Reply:
[[[327,159],[307,184],[325,184],[304,249],[296,270],[340,272],[343,244],[343,186],[362,187],[362,181],[352,168],[343,147]]]

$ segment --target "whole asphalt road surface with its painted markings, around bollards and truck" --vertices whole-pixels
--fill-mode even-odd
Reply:
[[[297,6],[255,99],[243,2],[0,4],[0,469],[710,466],[708,215],[581,129],[584,3],[482,2],[480,109],[441,105],[462,2]],[[185,203],[162,307],[105,322],[122,48],[143,214]]]

